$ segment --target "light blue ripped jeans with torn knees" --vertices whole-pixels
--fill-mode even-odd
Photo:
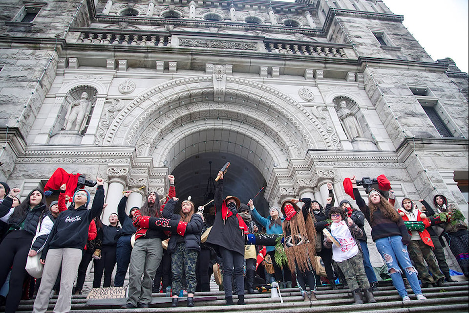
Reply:
[[[412,266],[407,246],[402,243],[402,237],[391,236],[380,238],[377,239],[375,243],[376,248],[383,257],[384,263],[386,263],[389,270],[392,284],[397,289],[397,292],[399,292],[399,295],[401,297],[405,297],[407,295],[404,281],[401,276],[402,270],[399,265],[405,269],[405,276],[407,277],[414,294],[421,294],[422,290],[420,289],[419,279],[417,278],[417,270]],[[395,272],[391,273],[391,269],[394,269]]]

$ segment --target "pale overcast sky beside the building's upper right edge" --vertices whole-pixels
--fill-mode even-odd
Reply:
[[[279,0],[295,2],[295,0]],[[433,60],[451,58],[469,70],[469,0],[383,0]]]

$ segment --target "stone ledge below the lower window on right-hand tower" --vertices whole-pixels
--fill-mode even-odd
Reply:
[[[396,149],[401,162],[405,162],[413,152],[456,152],[466,154],[469,140],[465,138],[405,138]]]

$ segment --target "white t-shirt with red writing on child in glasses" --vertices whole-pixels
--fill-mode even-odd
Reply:
[[[334,244],[332,245],[332,259],[334,261],[341,263],[357,255],[357,242],[353,238],[350,229],[348,229],[347,222],[341,221],[339,223],[332,223],[331,234],[341,244],[340,247]]]

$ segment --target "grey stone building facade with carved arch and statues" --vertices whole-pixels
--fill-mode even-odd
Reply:
[[[468,75],[435,62],[380,0],[7,0],[0,13],[0,179],[22,196],[57,167],[265,210],[384,174],[468,217]],[[448,51],[450,53],[450,51]],[[449,60],[449,61],[448,61]],[[209,162],[213,167],[209,170]],[[210,188],[209,188],[210,187]],[[466,189],[465,189],[466,188]],[[363,190],[364,195],[364,190]]]

